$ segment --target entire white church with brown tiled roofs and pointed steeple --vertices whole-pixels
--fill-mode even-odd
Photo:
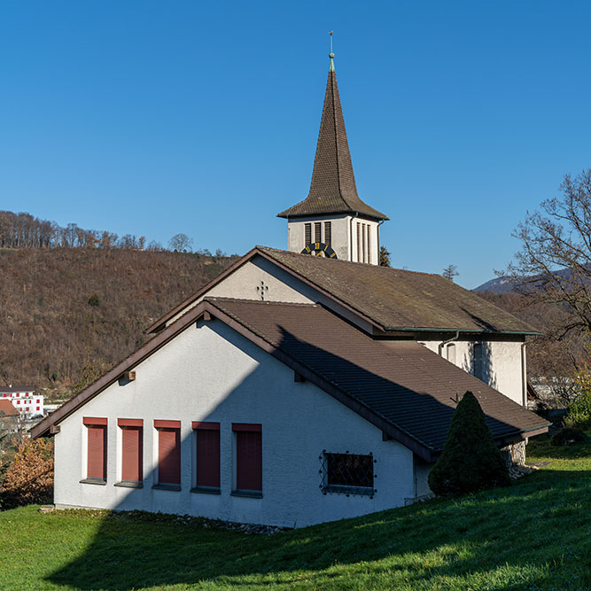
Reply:
[[[516,459],[548,430],[524,408],[532,327],[377,266],[332,57],[310,194],[280,215],[289,251],[253,248],[31,430],[55,437],[58,508],[305,526],[428,496],[467,390]]]

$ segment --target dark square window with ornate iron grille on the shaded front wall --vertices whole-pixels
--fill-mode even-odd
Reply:
[[[325,449],[319,455],[322,478],[320,489],[323,494],[367,495],[373,499],[377,489],[374,488],[374,459],[368,455],[332,454]]]

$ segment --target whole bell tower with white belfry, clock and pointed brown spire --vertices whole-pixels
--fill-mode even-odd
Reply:
[[[379,264],[379,226],[388,219],[359,198],[346,139],[330,32],[329,79],[312,183],[303,201],[278,217],[287,219],[288,250],[345,261]]]

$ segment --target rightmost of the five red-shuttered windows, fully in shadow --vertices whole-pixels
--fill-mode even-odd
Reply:
[[[236,437],[236,490],[232,494],[262,496],[262,426],[233,423]]]

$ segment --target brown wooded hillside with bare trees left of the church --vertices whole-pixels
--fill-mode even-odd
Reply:
[[[0,248],[0,383],[71,394],[141,346],[147,326],[230,261],[167,251]]]

